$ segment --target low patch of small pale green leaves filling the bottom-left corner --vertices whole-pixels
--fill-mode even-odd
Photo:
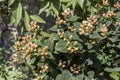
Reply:
[[[22,71],[15,69],[12,66],[7,66],[4,64],[0,65],[0,80],[20,80],[26,79],[27,76],[22,73]]]

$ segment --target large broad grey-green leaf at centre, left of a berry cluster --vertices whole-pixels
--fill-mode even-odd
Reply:
[[[55,49],[59,52],[67,53],[66,42],[64,42],[63,40],[59,40]]]

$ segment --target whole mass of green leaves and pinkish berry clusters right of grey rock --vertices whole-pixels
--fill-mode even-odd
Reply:
[[[24,18],[27,29],[14,44],[15,64],[20,64],[34,80],[119,80],[120,3],[117,0],[38,2],[41,8],[37,15],[28,13],[23,6],[27,0],[8,1],[12,9],[10,24],[17,26]],[[37,24],[47,24],[39,16],[43,12],[56,19],[49,30]]]

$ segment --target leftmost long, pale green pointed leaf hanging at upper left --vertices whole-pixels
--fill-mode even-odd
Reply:
[[[14,18],[15,18],[15,24],[16,26],[18,25],[18,23],[20,22],[21,20],[21,17],[22,17],[22,5],[21,3],[19,2],[18,3],[18,6],[15,10],[15,13],[14,13]]]

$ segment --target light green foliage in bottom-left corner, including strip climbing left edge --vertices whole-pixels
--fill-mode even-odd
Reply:
[[[12,61],[4,59],[3,48],[0,48],[0,80],[20,80],[27,79],[20,68],[14,66]],[[7,50],[5,50],[7,52]]]

